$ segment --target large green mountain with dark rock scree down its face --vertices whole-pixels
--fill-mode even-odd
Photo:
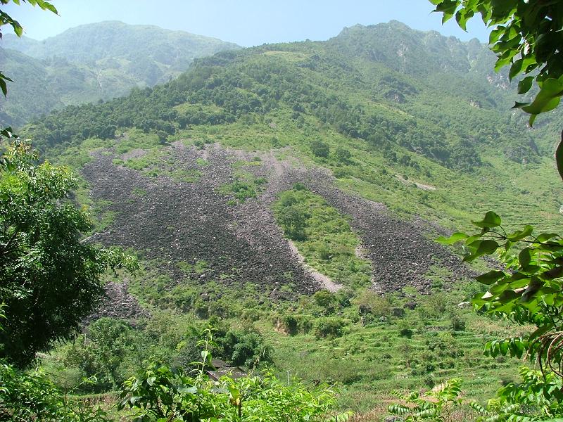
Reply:
[[[24,127],[80,172],[89,241],[141,260],[108,275],[96,314],[134,321],[140,339],[114,373],[151,354],[194,362],[196,340],[179,333],[211,323],[221,338],[262,335],[276,373],[343,383],[353,409],[460,373],[469,398],[500,386],[495,371],[514,381],[521,362],[482,353],[514,326],[457,305],[481,291],[475,268],[434,242],[488,210],[507,230],[562,222],[561,115],[527,128],[494,60],[475,40],[356,25],[199,58],[165,84]],[[230,338],[261,359],[258,340]],[[229,350],[217,356],[236,362]]]

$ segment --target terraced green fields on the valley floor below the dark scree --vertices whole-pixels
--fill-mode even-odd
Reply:
[[[429,307],[424,302],[419,306]],[[356,322],[348,333],[330,340],[312,334],[280,335],[267,325],[262,332],[274,345],[279,376],[289,372],[311,383],[341,383],[343,408],[369,411],[388,400],[393,390],[429,389],[459,376],[465,380],[464,397],[482,402],[495,395],[501,381],[517,379],[516,359],[491,359],[482,352],[486,341],[509,335],[515,327],[464,310],[459,314],[467,321],[466,329],[453,332],[449,312],[454,311],[448,306],[440,317],[407,310],[400,318],[387,316],[366,326]],[[399,334],[405,323],[414,328],[412,338]]]

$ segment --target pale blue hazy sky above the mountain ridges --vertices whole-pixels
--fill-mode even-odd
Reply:
[[[44,39],[84,23],[121,20],[217,37],[241,46],[281,41],[321,40],[343,27],[396,19],[417,30],[437,30],[468,40],[487,41],[479,18],[463,32],[441,25],[429,0],[52,0],[59,15],[29,4],[2,6],[19,20],[25,35]],[[8,32],[8,27],[3,27]]]

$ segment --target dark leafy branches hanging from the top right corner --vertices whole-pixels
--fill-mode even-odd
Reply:
[[[536,116],[559,106],[563,95],[563,2],[549,0],[430,0],[442,22],[455,15],[457,24],[466,30],[467,20],[476,13],[492,27],[489,44],[498,60],[495,70],[510,65],[510,79],[525,75],[518,83],[518,94],[530,91],[533,82],[538,93],[533,101],[515,103]],[[563,134],[562,134],[563,135]],[[557,170],[563,179],[563,138],[555,153]]]

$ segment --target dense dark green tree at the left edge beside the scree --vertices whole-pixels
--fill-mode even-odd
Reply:
[[[68,199],[77,184],[70,170],[35,164],[28,141],[1,134],[11,143],[0,159],[0,358],[23,367],[80,327],[103,293],[99,276],[108,266],[135,263],[81,240],[91,223]]]

